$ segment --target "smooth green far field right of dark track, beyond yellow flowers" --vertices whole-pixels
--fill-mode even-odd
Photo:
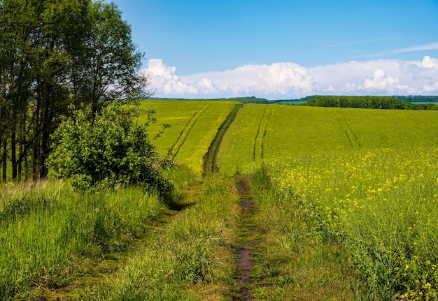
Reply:
[[[222,140],[217,165],[234,175],[260,159],[438,145],[437,112],[245,105]]]

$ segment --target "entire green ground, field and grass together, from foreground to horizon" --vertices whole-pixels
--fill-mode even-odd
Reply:
[[[166,171],[171,200],[3,184],[0,300],[438,300],[438,111],[141,108],[156,111],[151,138],[172,124],[154,140],[181,163]],[[219,172],[201,178],[215,138]],[[246,243],[252,282],[240,284]]]

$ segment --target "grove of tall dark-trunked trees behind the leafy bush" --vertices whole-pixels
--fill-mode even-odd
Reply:
[[[1,177],[45,177],[63,116],[105,101],[148,96],[143,54],[113,3],[0,0]]]

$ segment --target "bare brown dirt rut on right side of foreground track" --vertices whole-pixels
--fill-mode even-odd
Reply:
[[[234,180],[239,191],[241,214],[239,218],[239,248],[236,258],[236,281],[239,284],[239,291],[236,292],[233,300],[249,301],[253,300],[249,286],[253,284],[250,274],[254,266],[253,254],[257,251],[257,231],[254,222],[255,204],[248,177],[236,176]]]

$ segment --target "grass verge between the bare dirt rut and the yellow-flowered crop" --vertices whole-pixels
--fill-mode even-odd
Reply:
[[[278,190],[266,166],[251,170],[250,177],[262,233],[252,300],[364,300],[344,248],[327,240],[318,219]]]

